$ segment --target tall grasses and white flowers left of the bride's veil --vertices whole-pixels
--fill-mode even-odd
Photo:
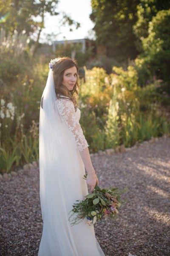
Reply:
[[[33,65],[26,58],[27,55],[23,54],[24,47],[23,51],[22,49],[17,51],[16,42],[26,41],[27,37],[20,39],[20,35],[15,33],[15,40],[14,37],[8,37],[8,45],[11,47],[4,47],[4,44],[0,47],[2,60],[0,62],[0,172],[2,173],[39,157],[40,99],[48,76],[48,65],[45,67],[40,63]]]

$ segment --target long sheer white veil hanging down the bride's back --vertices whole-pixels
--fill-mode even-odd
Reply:
[[[57,195],[62,197],[62,190],[71,189],[68,187],[71,186],[68,170],[72,162],[71,154],[75,150],[74,143],[70,143],[67,127],[59,118],[55,102],[54,78],[50,70],[40,109],[40,200],[43,220],[47,212],[57,211],[52,205],[54,200],[59,201]]]

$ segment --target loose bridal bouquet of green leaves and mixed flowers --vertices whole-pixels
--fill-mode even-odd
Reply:
[[[85,179],[87,175],[84,175]],[[121,204],[125,204],[121,200],[121,196],[127,189],[100,189],[95,186],[94,191],[85,196],[85,200],[76,200],[78,203],[73,204],[73,209],[69,212],[71,226],[79,224],[87,219],[89,226],[94,225],[97,221],[106,217],[116,218],[119,213]]]

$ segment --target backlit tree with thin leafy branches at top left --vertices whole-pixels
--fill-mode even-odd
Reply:
[[[19,33],[25,30],[27,35],[37,33],[35,51],[44,28],[45,14],[58,15],[57,5],[58,0],[0,0],[0,16],[4,17],[8,14],[6,20],[1,22],[1,27],[6,29],[6,32],[10,31],[11,33],[14,30]],[[74,24],[76,28],[79,27],[79,23],[65,13],[63,13],[62,23],[68,23],[70,26]]]

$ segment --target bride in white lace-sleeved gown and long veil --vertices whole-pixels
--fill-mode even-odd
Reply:
[[[99,183],[79,125],[77,64],[51,60],[40,109],[40,201],[43,219],[38,256],[103,256],[94,227],[71,227],[68,213]],[[87,184],[83,179],[85,169]]]

